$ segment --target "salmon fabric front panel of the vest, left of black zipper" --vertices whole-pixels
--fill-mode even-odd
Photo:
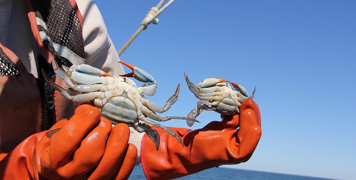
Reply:
[[[42,129],[42,104],[37,81],[9,49],[2,51],[16,65],[21,76],[0,77],[0,151],[13,149]],[[14,132],[16,129],[16,132]]]

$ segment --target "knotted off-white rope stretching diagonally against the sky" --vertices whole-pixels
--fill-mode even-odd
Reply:
[[[165,0],[161,0],[161,1],[159,1],[159,3],[157,4],[156,7],[151,7],[151,9],[150,9],[150,11],[148,11],[146,17],[143,18],[143,20],[140,24],[140,27],[137,29],[137,31],[135,33],[133,33],[133,35],[130,37],[130,39],[124,44],[124,46],[122,46],[120,51],[117,52],[117,54],[119,54],[119,56],[125,51],[125,49],[127,47],[129,47],[129,45],[140,34],[140,32],[147,28],[147,26],[150,23],[157,24],[158,23],[157,16],[159,14],[161,14],[165,9],[167,9],[167,7],[169,5],[171,5],[175,0],[169,0],[161,9],[159,9],[163,5],[164,1]]]

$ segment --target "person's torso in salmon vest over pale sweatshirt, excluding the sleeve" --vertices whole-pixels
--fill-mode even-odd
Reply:
[[[83,19],[75,1],[2,2],[7,7],[0,9],[0,24],[5,25],[0,30],[0,150],[74,112],[77,104],[53,94],[41,80],[39,72],[45,69],[64,86],[52,72],[51,57],[64,68],[84,63]]]

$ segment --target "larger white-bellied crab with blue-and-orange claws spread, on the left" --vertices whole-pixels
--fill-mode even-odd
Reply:
[[[180,84],[178,84],[176,92],[169,97],[166,105],[160,107],[143,96],[143,94],[148,96],[155,94],[157,81],[153,76],[128,63],[119,63],[129,67],[132,72],[120,75],[121,77],[115,77],[87,64],[74,64],[68,69],[68,73],[66,73],[58,67],[56,60],[52,58],[54,72],[59,78],[64,80],[69,88],[62,88],[53,83],[43,70],[42,72],[49,86],[59,91],[66,99],[74,102],[91,101],[95,107],[99,108],[101,116],[109,119],[112,124],[126,123],[137,132],[146,132],[148,137],[156,144],[157,150],[160,142],[159,134],[151,126],[164,129],[183,145],[182,140],[174,131],[147,119],[148,117],[155,121],[179,119],[199,122],[187,117],[160,117],[156,114],[156,112],[163,113],[167,111],[177,101]],[[141,82],[148,83],[148,85],[144,84],[136,88],[126,77],[133,77]],[[73,91],[77,95],[72,96],[67,91]]]

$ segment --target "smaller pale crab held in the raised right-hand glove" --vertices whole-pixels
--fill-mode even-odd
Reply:
[[[200,81],[196,86],[191,83],[188,76],[184,73],[185,81],[189,90],[194,95],[202,100],[198,101],[197,108],[194,108],[189,114],[188,118],[195,119],[203,110],[216,111],[222,115],[236,115],[240,113],[240,106],[242,102],[248,98],[253,98],[255,90],[253,90],[252,96],[248,97],[248,92],[244,87],[236,83],[232,83],[225,79],[220,78],[208,78]],[[231,85],[235,89],[232,89]],[[210,105],[210,106],[209,106]],[[187,121],[188,126],[193,126],[194,121]]]

